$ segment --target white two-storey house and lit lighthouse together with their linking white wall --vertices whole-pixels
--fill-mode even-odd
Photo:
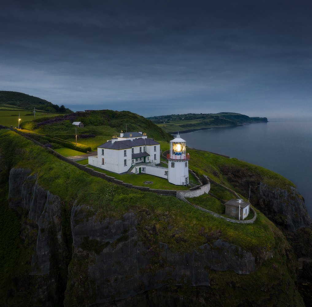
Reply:
[[[179,135],[170,141],[167,155],[168,168],[161,167],[160,144],[147,137],[146,133],[121,131],[110,141],[98,146],[97,156],[90,156],[90,165],[117,174],[132,172],[145,173],[168,179],[175,185],[188,184],[188,160],[185,141]]]

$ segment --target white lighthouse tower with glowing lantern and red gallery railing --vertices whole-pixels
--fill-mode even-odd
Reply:
[[[190,155],[186,153],[185,141],[177,135],[170,141],[170,154],[168,159],[168,181],[177,186],[188,184],[188,160]]]

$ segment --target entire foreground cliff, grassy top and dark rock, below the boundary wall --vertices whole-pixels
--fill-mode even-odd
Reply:
[[[20,221],[1,306],[303,306],[290,245],[260,212],[252,225],[220,221],[0,134],[1,206]]]

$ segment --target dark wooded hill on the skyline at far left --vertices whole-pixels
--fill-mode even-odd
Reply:
[[[44,99],[30,96],[20,92],[0,91],[0,106],[16,107],[23,110],[33,110],[33,108],[47,112],[70,113],[70,109],[64,105],[58,106]]]

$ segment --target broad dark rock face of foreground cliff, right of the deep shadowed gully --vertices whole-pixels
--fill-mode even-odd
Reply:
[[[69,271],[66,297],[75,293],[76,304],[125,299],[165,284],[209,285],[207,268],[234,270],[239,274],[255,270],[251,253],[222,240],[212,246],[199,246],[191,253],[173,253],[167,244],[156,241],[146,244],[142,240],[134,213],[124,214],[122,220],[96,221],[94,216],[88,217],[88,210],[74,206],[71,215],[73,264],[88,255],[88,263],[84,263],[87,278],[81,277],[76,265]],[[89,289],[96,295],[87,298]],[[70,299],[65,302],[72,304]]]

